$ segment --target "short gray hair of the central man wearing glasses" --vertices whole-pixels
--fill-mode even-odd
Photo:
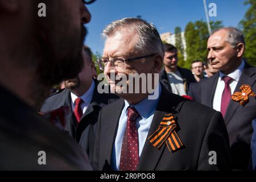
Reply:
[[[115,20],[104,28],[102,31],[102,38],[107,39],[114,36],[117,32],[122,31],[123,28],[128,28],[131,31],[137,31],[139,40],[135,44],[135,48],[146,53],[159,53],[164,56],[163,42],[154,24],[147,23],[140,18],[123,18]]]

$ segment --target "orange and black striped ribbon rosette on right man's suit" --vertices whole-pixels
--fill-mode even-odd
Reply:
[[[256,97],[250,85],[243,84],[240,90],[241,92],[236,92],[232,95],[232,100],[239,102],[240,105],[245,105],[249,101],[250,96]]]

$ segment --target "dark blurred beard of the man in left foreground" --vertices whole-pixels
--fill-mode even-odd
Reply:
[[[63,37],[65,40],[60,40],[54,48],[49,47],[46,40],[40,40],[44,46],[37,73],[43,85],[55,85],[80,73],[84,66],[81,51],[86,28],[82,26],[80,32],[80,35],[74,32],[69,38]]]

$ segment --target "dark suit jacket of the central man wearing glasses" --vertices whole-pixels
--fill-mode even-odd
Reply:
[[[93,165],[99,170],[112,169],[111,155],[124,100],[104,107],[98,118],[98,135]],[[165,114],[175,114],[184,147],[170,152],[164,144],[160,150],[146,140],[138,170],[218,170],[230,168],[229,140],[220,112],[197,104],[162,88],[154,118],[148,132],[152,135]],[[209,151],[216,151],[217,165],[210,165]]]

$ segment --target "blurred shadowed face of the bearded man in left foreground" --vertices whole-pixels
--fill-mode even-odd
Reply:
[[[43,84],[52,85],[81,71],[81,50],[86,35],[83,24],[90,21],[90,13],[81,0],[43,2],[47,17],[36,18],[38,75]]]

